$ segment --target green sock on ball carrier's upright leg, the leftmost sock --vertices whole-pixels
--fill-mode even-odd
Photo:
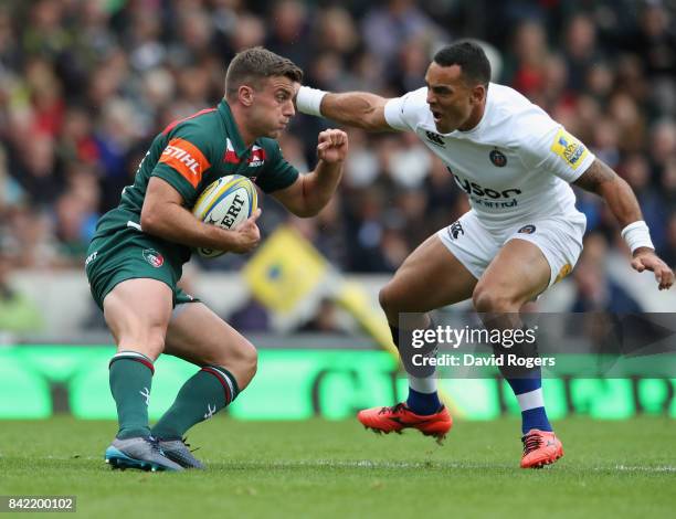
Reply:
[[[110,360],[110,393],[117,404],[120,439],[148,436],[148,399],[155,368],[136,351],[120,351]]]

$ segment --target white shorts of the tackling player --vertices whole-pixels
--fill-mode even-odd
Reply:
[[[535,218],[500,231],[489,231],[474,211],[467,211],[436,234],[477,279],[509,240],[526,240],[545,254],[549,263],[551,286],[570,274],[575,266],[582,252],[585,229],[587,218],[574,211],[564,215]]]

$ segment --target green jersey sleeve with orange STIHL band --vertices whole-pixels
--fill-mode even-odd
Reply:
[[[194,125],[181,125],[170,134],[150,173],[176,189],[192,206],[201,192],[202,178],[211,168],[209,137]],[[158,138],[161,138],[158,137]]]

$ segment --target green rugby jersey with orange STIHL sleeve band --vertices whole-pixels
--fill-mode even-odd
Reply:
[[[94,237],[126,227],[140,231],[140,212],[150,177],[169,182],[183,197],[183,205],[192,208],[207,186],[228,174],[247,177],[270,193],[294,183],[298,170],[284,159],[274,139],[260,138],[246,148],[223,99],[215,108],[170,124],[152,140],[134,184],[123,190],[120,204],[98,221]],[[162,242],[182,263],[190,258],[190,247]]]

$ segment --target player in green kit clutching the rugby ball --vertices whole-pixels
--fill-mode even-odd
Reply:
[[[293,62],[265,49],[239,53],[223,100],[158,135],[119,206],[97,224],[85,271],[117,343],[109,375],[119,430],[105,454],[114,467],[202,468],[186,431],[230,404],[256,371],[253,345],[177,283],[191,248],[247,253],[261,240],[260,210],[232,231],[192,215],[200,192],[218,178],[249,177],[298,216],[316,215],[336,191],[348,150],[344,131],[319,134],[317,167],[308,174],[284,160],[275,140],[295,115],[302,78]],[[160,353],[200,370],[150,428],[152,363]]]

